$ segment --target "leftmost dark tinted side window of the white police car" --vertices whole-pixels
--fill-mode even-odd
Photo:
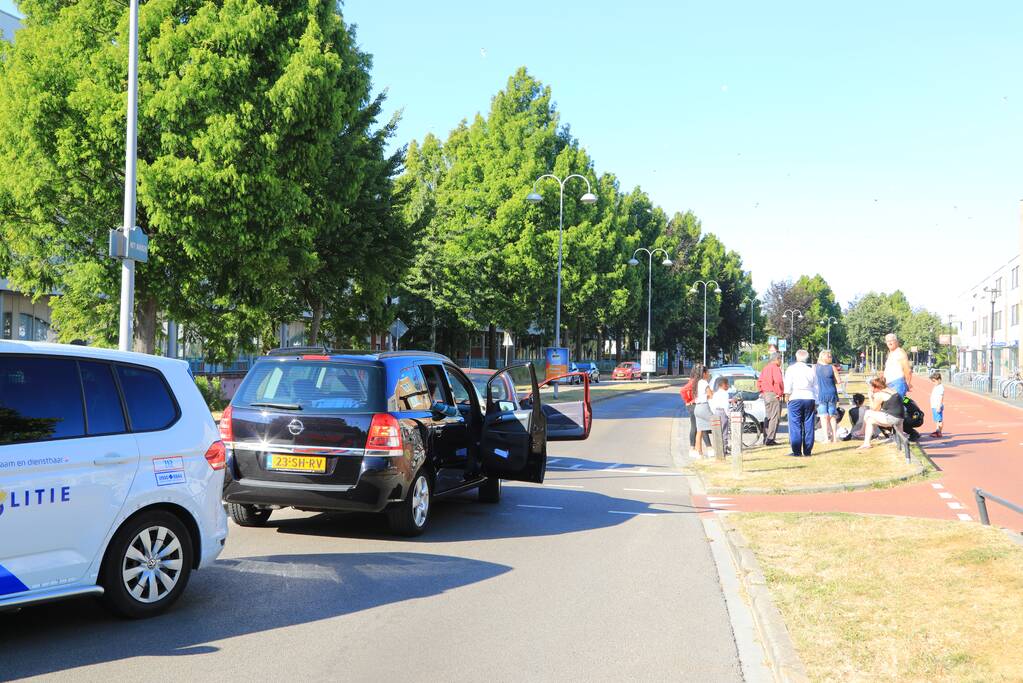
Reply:
[[[0,357],[0,445],[83,436],[74,359]]]

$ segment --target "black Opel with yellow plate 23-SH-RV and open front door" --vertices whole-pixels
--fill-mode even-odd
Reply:
[[[532,389],[519,405],[494,386],[511,372]],[[418,535],[437,496],[479,489],[496,503],[502,479],[542,483],[547,441],[589,436],[586,385],[582,401],[542,405],[536,372],[522,364],[495,373],[481,405],[439,354],[271,352],[221,418],[224,501],[246,527],[295,507],[385,512],[395,533]]]

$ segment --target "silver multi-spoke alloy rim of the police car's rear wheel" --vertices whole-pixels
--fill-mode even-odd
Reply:
[[[164,599],[181,578],[181,541],[167,527],[147,527],[128,545],[121,577],[128,593],[146,604]]]

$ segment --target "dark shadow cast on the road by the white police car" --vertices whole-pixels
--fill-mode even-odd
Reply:
[[[508,572],[503,564],[409,552],[268,555],[192,575],[168,613],[130,622],[93,599],[0,614],[0,677],[41,676],[137,656],[217,651],[212,641],[438,595]],[[161,678],[159,665],[153,672]]]

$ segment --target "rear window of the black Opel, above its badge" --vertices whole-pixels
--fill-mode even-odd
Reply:
[[[246,375],[231,403],[320,413],[384,412],[384,368],[338,361],[261,361]],[[253,405],[259,403],[272,405]]]

